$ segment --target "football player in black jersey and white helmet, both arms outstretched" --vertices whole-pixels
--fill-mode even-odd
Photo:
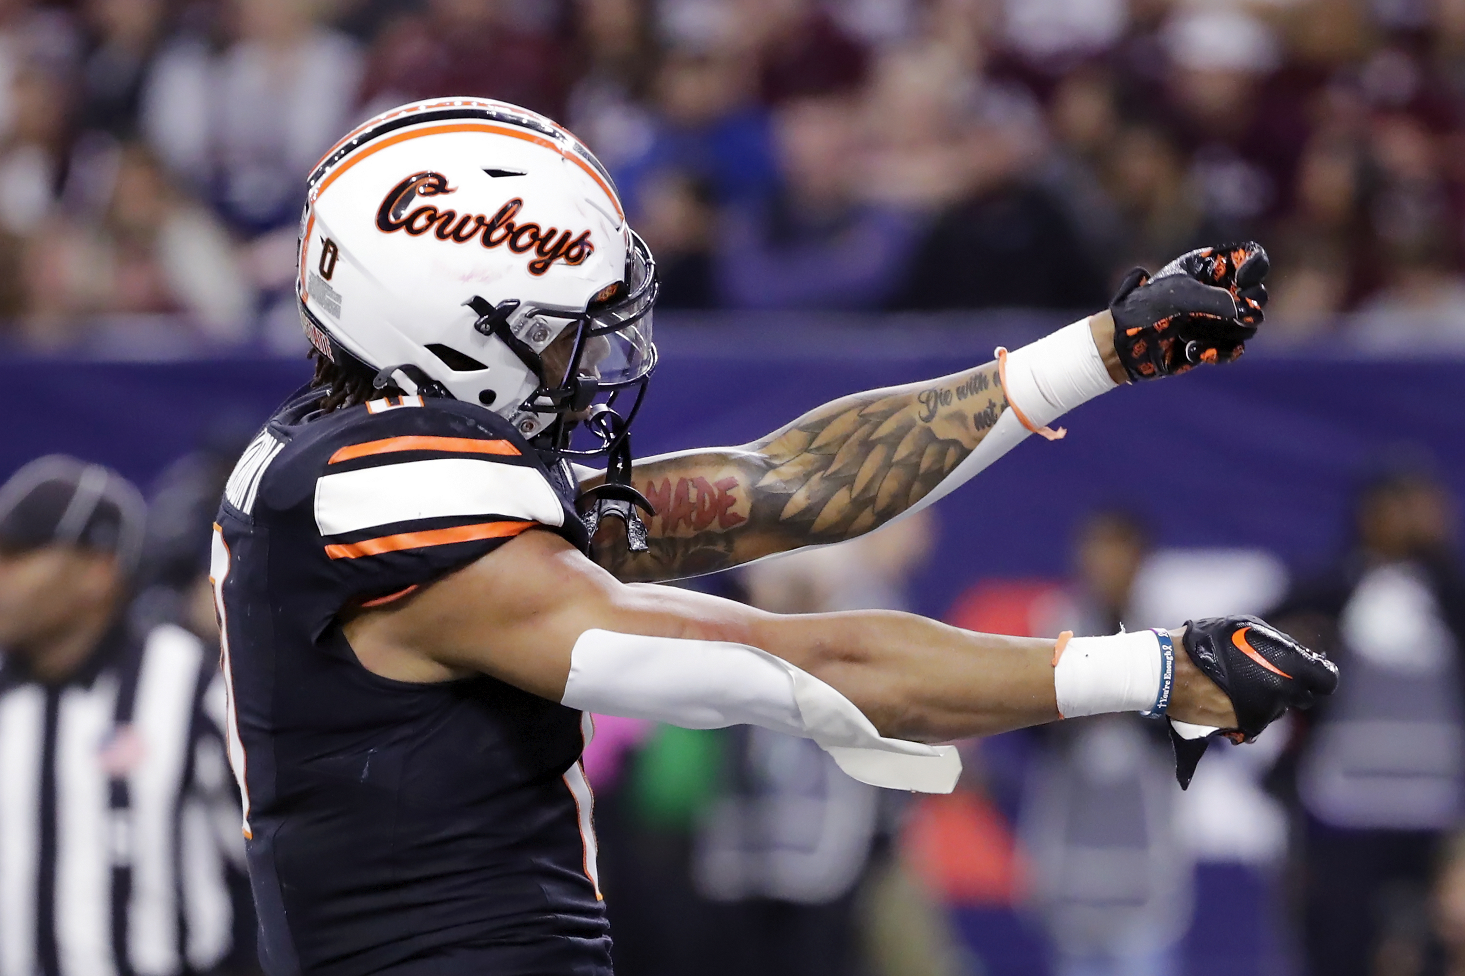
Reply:
[[[1250,617],[1055,642],[646,585],[869,532],[1106,390],[1235,359],[1264,274],[1256,245],[1193,252],[995,362],[633,462],[656,276],[595,157],[470,98],[349,133],[300,224],[315,380],[214,535],[265,969],[609,973],[590,712],[759,724],[943,791],[955,750],[927,743],[1143,711],[1185,781],[1209,736],[1329,693]]]

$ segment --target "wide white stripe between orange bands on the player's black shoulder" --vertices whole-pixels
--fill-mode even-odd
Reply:
[[[325,475],[315,482],[315,525],[321,535],[488,514],[564,523],[564,507],[545,476],[502,462],[444,457]]]

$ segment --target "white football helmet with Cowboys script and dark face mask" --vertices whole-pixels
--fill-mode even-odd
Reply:
[[[656,365],[655,264],[570,132],[501,101],[419,101],[349,133],[308,186],[296,287],[321,355],[482,403],[560,453],[624,438]],[[589,450],[570,450],[579,421]]]

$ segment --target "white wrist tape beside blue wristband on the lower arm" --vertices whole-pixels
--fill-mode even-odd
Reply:
[[[1074,637],[1053,665],[1053,692],[1064,718],[1144,712],[1160,696],[1163,655],[1153,630]]]

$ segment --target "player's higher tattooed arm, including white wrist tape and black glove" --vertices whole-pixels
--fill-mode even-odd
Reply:
[[[1256,243],[1201,248],[1153,278],[1131,271],[1109,311],[1015,350],[1005,380],[989,362],[835,400],[741,447],[645,460],[631,482],[656,507],[649,548],[630,551],[624,525],[605,519],[595,560],[623,580],[662,580],[869,532],[1113,384],[1238,358],[1261,322],[1267,267]]]

